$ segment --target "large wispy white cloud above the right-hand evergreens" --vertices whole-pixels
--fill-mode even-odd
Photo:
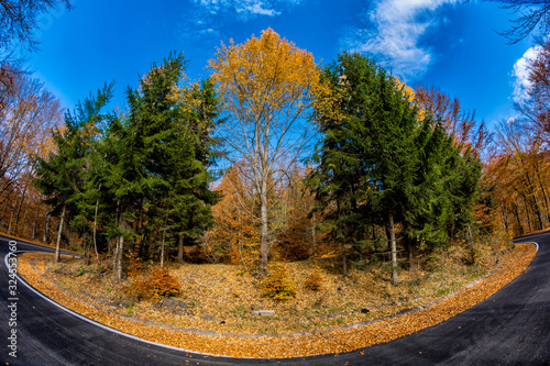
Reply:
[[[367,14],[369,27],[352,31],[344,40],[352,51],[370,54],[406,80],[417,79],[432,62],[429,48],[419,45],[427,29],[438,22],[433,12],[457,0],[380,0]]]

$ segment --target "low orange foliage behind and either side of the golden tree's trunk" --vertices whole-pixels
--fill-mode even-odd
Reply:
[[[314,197],[304,187],[304,169],[289,169],[286,179],[273,185],[268,195],[271,257],[275,260],[301,260],[319,252],[323,234],[317,229],[318,213],[309,217]],[[258,197],[246,180],[244,164],[233,166],[220,179],[216,190],[223,198],[212,208],[213,229],[205,235],[202,246],[213,262],[257,264],[260,246]]]

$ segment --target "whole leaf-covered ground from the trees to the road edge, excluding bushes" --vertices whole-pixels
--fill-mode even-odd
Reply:
[[[351,269],[344,278],[336,258],[286,263],[296,290],[289,300],[263,297],[257,277],[241,266],[170,263],[167,268],[182,288],[172,308],[155,306],[160,299],[139,301],[128,295],[135,278],[118,284],[111,273],[84,259],[54,264],[52,255],[25,254],[19,273],[63,306],[152,342],[235,357],[292,357],[387,342],[483,301],[535,256],[532,245],[513,249],[502,243],[425,256],[418,268],[399,270],[397,286],[389,282],[388,264]],[[156,264],[148,266],[144,274]],[[306,286],[314,274],[320,275],[317,290]],[[253,310],[275,314],[258,317]]]

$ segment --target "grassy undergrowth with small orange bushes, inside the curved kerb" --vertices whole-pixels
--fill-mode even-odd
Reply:
[[[461,286],[486,275],[504,263],[506,246],[464,243],[419,256],[414,267],[400,266],[398,285],[391,284],[389,266],[374,263],[349,275],[339,273],[338,256],[290,263],[271,263],[265,279],[251,275],[242,266],[212,264],[169,264],[169,270],[148,267],[127,258],[128,278],[116,284],[112,276],[81,271],[81,260],[50,266],[48,276],[74,291],[82,288],[95,299],[122,302],[119,297],[139,301],[120,308],[132,317],[152,319],[174,317],[152,312],[160,297],[185,302],[194,317],[166,318],[182,328],[241,334],[307,332],[370,321],[427,304]],[[51,262],[48,262],[50,264]],[[78,285],[67,279],[78,278]],[[106,291],[109,286],[110,291]],[[130,309],[130,310],[129,310]],[[253,310],[274,310],[273,318],[253,317]],[[116,311],[119,311],[117,308]]]

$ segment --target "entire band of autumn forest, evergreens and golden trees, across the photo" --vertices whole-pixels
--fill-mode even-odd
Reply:
[[[550,42],[529,98],[490,131],[433,86],[358,53],[321,66],[267,29],[222,44],[202,80],[174,52],[113,109],[74,110],[16,64],[0,69],[0,231],[84,254],[122,280],[135,260],[376,258],[398,267],[548,226]],[[94,86],[90,86],[92,89]]]

